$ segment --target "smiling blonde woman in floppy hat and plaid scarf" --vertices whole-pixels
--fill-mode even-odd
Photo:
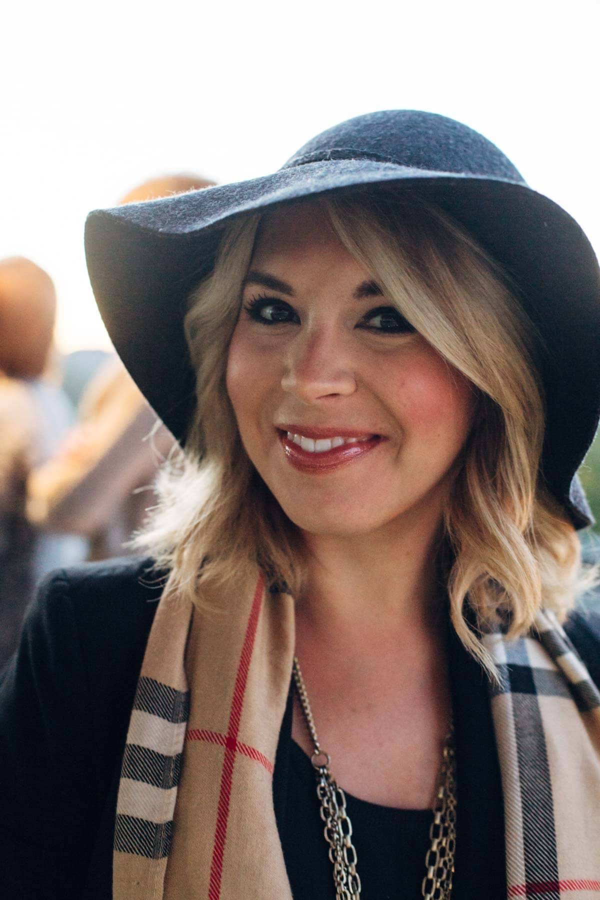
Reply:
[[[4,680],[14,896],[600,896],[578,226],[381,112],[86,242],[185,453],[151,557],[59,573]]]

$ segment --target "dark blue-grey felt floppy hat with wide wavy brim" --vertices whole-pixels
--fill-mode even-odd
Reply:
[[[576,472],[600,414],[600,271],[585,234],[533,191],[488,139],[432,112],[372,112],[309,140],[279,171],[90,213],[85,252],[112,342],[181,444],[195,404],[187,296],[213,265],[223,226],[285,202],[381,184],[406,187],[459,221],[518,285],[542,360],[542,473],[576,527],[592,521]]]

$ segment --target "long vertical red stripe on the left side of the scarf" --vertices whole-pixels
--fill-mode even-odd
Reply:
[[[248,670],[250,668],[250,660],[252,659],[252,651],[255,645],[256,627],[258,626],[258,616],[261,608],[261,600],[263,599],[263,585],[263,576],[261,575],[256,583],[255,597],[252,601],[252,609],[250,610],[250,617],[246,626],[246,636],[244,637],[244,645],[237,666],[236,684],[233,689],[233,699],[229,711],[229,725],[227,737],[225,738],[225,758],[223,760],[223,771],[221,772],[217,827],[215,829],[212,861],[210,863],[209,900],[219,900],[220,897],[221,878],[223,875],[223,855],[225,852],[225,839],[227,837],[229,816],[229,800],[231,798],[233,767],[236,760],[237,734],[239,732],[239,722],[242,717],[242,707],[244,706],[244,694],[246,692],[246,681]]]

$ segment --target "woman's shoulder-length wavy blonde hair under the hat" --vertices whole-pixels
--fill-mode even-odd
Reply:
[[[317,202],[388,302],[478,393],[440,561],[452,624],[491,673],[482,632],[500,619],[509,637],[523,635],[542,606],[563,619],[588,586],[576,531],[539,479],[540,338],[506,273],[441,209],[385,189]],[[136,541],[196,602],[200,588],[218,588],[248,562],[294,596],[306,571],[299,529],[250,463],[225,385],[259,222],[249,215],[228,226],[212,273],[190,297],[184,324],[196,411],[185,453],[160,474],[157,508]]]

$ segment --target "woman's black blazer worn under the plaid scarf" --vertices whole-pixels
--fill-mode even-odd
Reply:
[[[161,582],[150,561],[52,574],[0,676],[0,896],[110,900],[121,755]],[[568,631],[600,684],[600,614]],[[459,784],[455,900],[506,900],[502,788],[479,667],[450,637]],[[291,703],[273,804],[285,853]]]

